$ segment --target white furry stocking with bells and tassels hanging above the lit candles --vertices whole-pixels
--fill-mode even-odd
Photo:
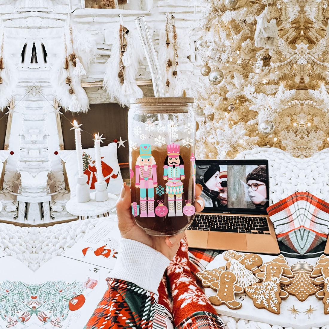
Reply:
[[[55,96],[65,110],[87,112],[89,99],[81,86],[81,80],[96,57],[96,43],[71,26],[69,14],[63,39],[64,59],[61,58],[55,65],[52,79]]]

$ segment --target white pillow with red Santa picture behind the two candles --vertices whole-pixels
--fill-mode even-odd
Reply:
[[[120,194],[123,184],[118,157],[116,152],[116,143],[110,143],[107,146],[101,147],[101,156],[103,168],[103,175],[108,182],[107,190],[113,194]],[[94,190],[94,182],[97,181],[96,165],[92,162],[95,160],[94,148],[83,149],[84,153],[84,169],[85,174],[88,175],[88,184],[90,191]],[[71,198],[75,196],[76,176],[78,175],[78,162],[76,150],[62,150],[59,151],[60,157],[65,163],[65,170],[68,178],[68,185],[71,191]],[[113,169],[113,170],[111,170]],[[90,179],[91,178],[91,179]]]

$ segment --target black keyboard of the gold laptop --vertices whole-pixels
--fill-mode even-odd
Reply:
[[[188,230],[270,234],[266,217],[195,214]]]

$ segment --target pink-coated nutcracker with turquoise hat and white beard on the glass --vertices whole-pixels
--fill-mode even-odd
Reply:
[[[155,217],[154,188],[157,183],[157,165],[150,144],[141,144],[136,165],[136,188],[140,190],[140,217]]]

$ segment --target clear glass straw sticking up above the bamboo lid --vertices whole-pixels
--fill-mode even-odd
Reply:
[[[148,66],[151,71],[152,85],[154,97],[164,97],[164,88],[162,84],[162,77],[157,55],[154,50],[153,42],[148,30],[144,16],[135,18],[135,24],[139,34],[140,42],[142,44]]]

